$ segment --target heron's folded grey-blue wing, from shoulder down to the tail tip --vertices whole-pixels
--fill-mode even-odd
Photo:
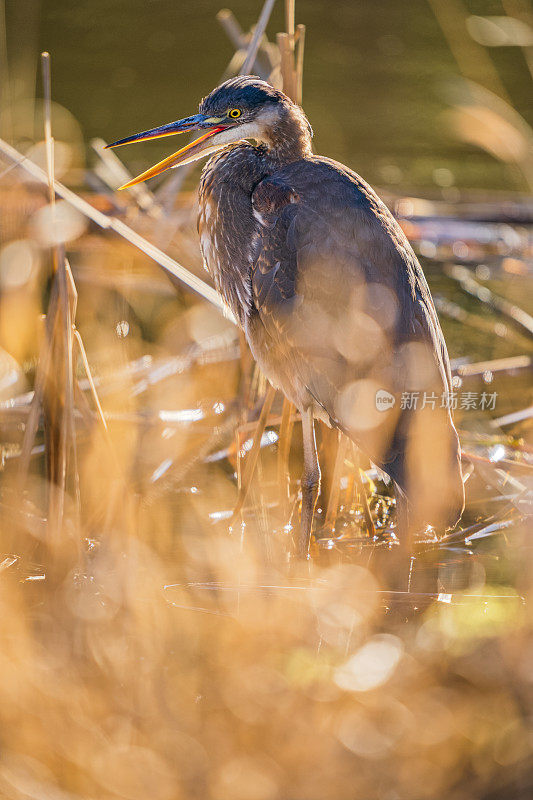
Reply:
[[[457,434],[439,405],[448,355],[398,223],[364,181],[327,159],[284,167],[252,199],[261,227],[249,331],[267,374],[300,407],[312,398],[416,499],[419,521],[453,524],[463,489]],[[396,399],[386,413],[382,391]],[[402,407],[416,391],[437,408]]]

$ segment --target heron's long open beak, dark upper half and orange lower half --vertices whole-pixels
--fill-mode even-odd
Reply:
[[[178,150],[177,153],[173,153],[171,156],[168,156],[168,158],[164,158],[163,161],[147,169],[146,172],[141,173],[141,175],[125,183],[120,189],[129,189],[130,186],[135,186],[137,183],[148,180],[148,178],[153,178],[154,175],[159,175],[161,172],[171,167],[176,167],[179,164],[187,164],[189,161],[194,161],[196,158],[199,158],[201,154],[207,154],[212,150],[218,149],[216,147],[209,147],[206,145],[206,142],[208,139],[215,136],[215,134],[224,130],[224,125],[220,126],[216,124],[219,121],[219,119],[214,119],[213,117],[208,118],[204,114],[196,114],[193,117],[186,117],[177,122],[169,122],[168,125],[162,125],[159,128],[152,128],[149,131],[136,133],[133,136],[119,139],[107,145],[108,147],[120,147],[124,144],[130,144],[130,142],[144,142],[148,139],[160,139],[162,136],[173,136],[176,133],[209,128],[202,136],[199,136],[193,142],[189,142],[189,144],[182,147],[181,150]]]

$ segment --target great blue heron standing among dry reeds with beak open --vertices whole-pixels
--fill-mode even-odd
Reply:
[[[455,525],[464,493],[448,353],[402,229],[362,178],[313,155],[303,110],[253,76],[110,146],[197,129],[126,187],[215,154],[200,183],[202,254],[262,371],[301,413],[299,553],[320,485],[315,417],[392,478],[404,528]]]

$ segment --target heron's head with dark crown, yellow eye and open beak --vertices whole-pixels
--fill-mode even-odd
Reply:
[[[313,135],[304,112],[286,94],[260,78],[246,75],[217,86],[202,100],[198,114],[119,139],[108,147],[195,130],[202,131],[202,135],[121,188],[134,186],[243,139],[265,142],[287,158],[298,158],[310,152]]]

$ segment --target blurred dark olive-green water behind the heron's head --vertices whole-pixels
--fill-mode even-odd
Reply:
[[[454,0],[455,2],[455,0]],[[215,15],[224,0],[7,0],[15,91],[35,85],[37,56],[52,54],[53,95],[85,139],[113,140],[193,113],[222,75],[233,47]],[[232,0],[245,30],[260,0]],[[502,15],[498,0],[468,0],[469,14]],[[307,26],[304,107],[317,152],[378,185],[525,189],[514,167],[456,140],[443,118],[445,85],[458,67],[426,0],[299,0]],[[284,29],[277,3],[268,33]],[[515,109],[532,121],[531,83],[518,47],[490,49]],[[26,82],[26,85],[24,85]],[[40,87],[38,88],[40,93]],[[122,156],[135,172],[168,154],[168,142]]]

